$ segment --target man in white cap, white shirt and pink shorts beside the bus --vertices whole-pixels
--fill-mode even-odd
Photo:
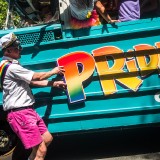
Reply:
[[[29,85],[66,89],[63,81],[47,80],[55,74],[63,75],[65,70],[60,66],[48,72],[34,72],[22,67],[18,61],[22,47],[14,33],[4,35],[0,47],[3,52],[0,63],[3,110],[7,112],[7,121],[24,147],[32,148],[29,159],[44,160],[53,137],[34,110],[35,100]]]

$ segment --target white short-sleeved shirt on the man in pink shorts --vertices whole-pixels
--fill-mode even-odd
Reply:
[[[3,81],[3,109],[7,111],[13,108],[25,107],[35,103],[29,87],[34,72],[23,68],[17,60],[3,57],[1,62],[11,60]]]

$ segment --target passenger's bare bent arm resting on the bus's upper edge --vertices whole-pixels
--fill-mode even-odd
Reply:
[[[103,4],[100,1],[96,1],[95,2],[95,7],[97,9],[97,11],[99,12],[99,14],[108,22],[108,23],[115,23],[115,22],[119,22],[119,20],[112,20],[110,15],[106,12],[105,7],[103,6]]]

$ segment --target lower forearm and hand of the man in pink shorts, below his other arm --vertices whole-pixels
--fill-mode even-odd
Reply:
[[[37,86],[37,87],[57,87],[66,89],[67,85],[63,81],[49,81],[49,80],[42,80],[42,81],[31,81],[30,85]]]

